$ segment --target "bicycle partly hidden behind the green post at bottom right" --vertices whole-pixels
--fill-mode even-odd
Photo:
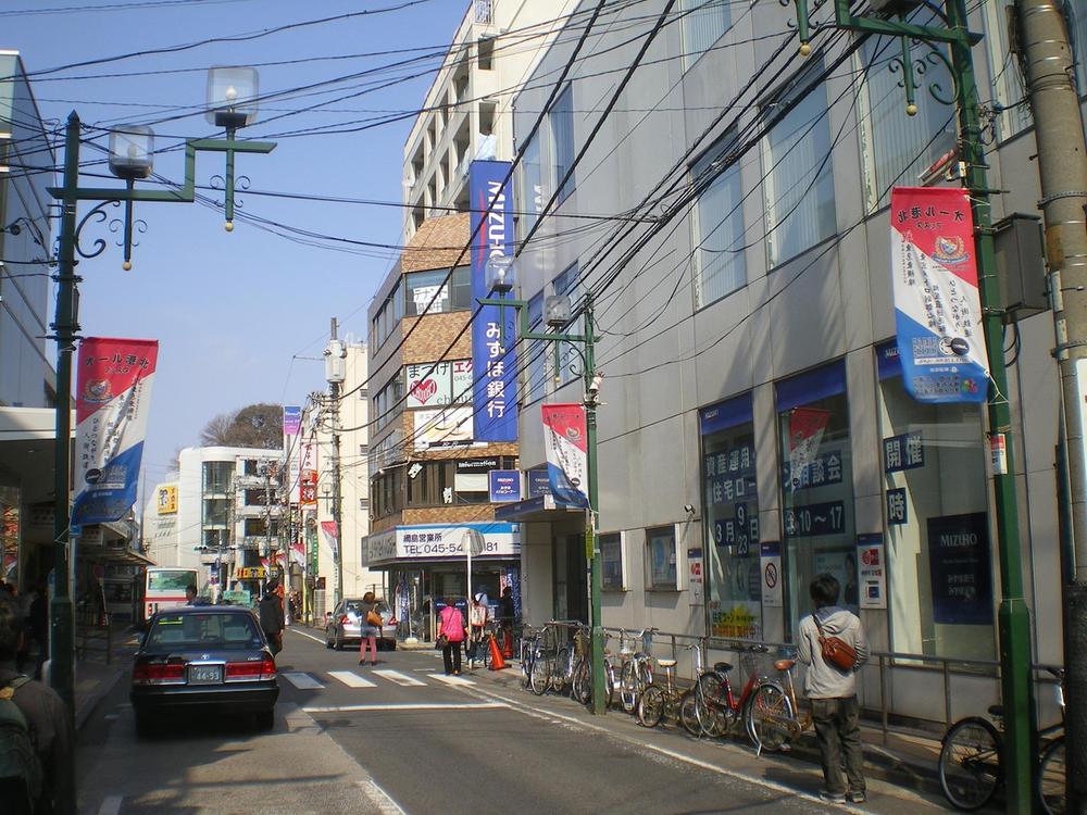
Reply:
[[[1054,686],[1061,720],[1038,730],[1035,793],[1050,815],[1065,812],[1064,756],[1064,670],[1048,668]],[[980,810],[1003,783],[1003,705],[989,707],[996,726],[982,716],[959,719],[948,729],[940,745],[940,788],[957,810]]]

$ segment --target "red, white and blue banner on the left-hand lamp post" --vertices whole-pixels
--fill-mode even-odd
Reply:
[[[120,521],[136,503],[158,355],[158,340],[79,343],[72,526]]]

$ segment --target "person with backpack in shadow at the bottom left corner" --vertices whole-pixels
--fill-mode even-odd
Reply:
[[[75,815],[75,734],[57,692],[15,669],[23,634],[18,609],[0,598],[0,763],[18,769],[0,780],[0,810]]]

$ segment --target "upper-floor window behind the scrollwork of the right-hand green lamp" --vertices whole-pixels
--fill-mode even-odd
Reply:
[[[913,20],[928,25],[927,21]],[[917,58],[921,49],[914,45]],[[913,186],[921,174],[955,146],[954,109],[940,104],[932,93],[919,91],[917,113],[905,112],[905,93],[900,87],[900,72],[892,72],[892,60],[901,59],[901,40],[897,37],[872,37],[861,46],[864,65],[864,104],[858,108],[861,154],[864,166],[865,206],[874,212],[885,206],[895,185]],[[926,83],[953,87],[942,62],[926,63]]]

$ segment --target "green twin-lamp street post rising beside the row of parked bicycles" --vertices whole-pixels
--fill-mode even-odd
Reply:
[[[585,333],[565,334],[559,329],[570,325],[570,298],[565,294],[548,297],[544,304],[545,322],[553,330],[539,333],[530,330],[528,323],[528,301],[505,297],[513,289],[513,259],[509,256],[492,258],[487,262],[487,290],[497,291],[498,298],[480,299],[480,305],[497,305],[500,309],[517,310],[517,339],[541,340],[552,342],[555,369],[559,368],[559,343],[569,342],[582,358],[582,378],[584,381],[585,405],[585,448],[586,469],[588,475],[587,494],[589,505],[585,514],[585,554],[589,561],[589,594],[591,604],[592,637],[590,642],[592,673],[592,713],[602,716],[607,710],[604,700],[604,632],[600,619],[600,595],[603,591],[603,577],[600,564],[600,542],[597,536],[597,521],[600,513],[599,488],[597,478],[597,405],[600,404],[600,376],[596,372],[595,346],[599,337],[595,334],[592,323],[592,294],[586,293]],[[504,321],[500,321],[504,327]],[[504,344],[505,338],[502,337]],[[578,350],[582,346],[584,351]]]

